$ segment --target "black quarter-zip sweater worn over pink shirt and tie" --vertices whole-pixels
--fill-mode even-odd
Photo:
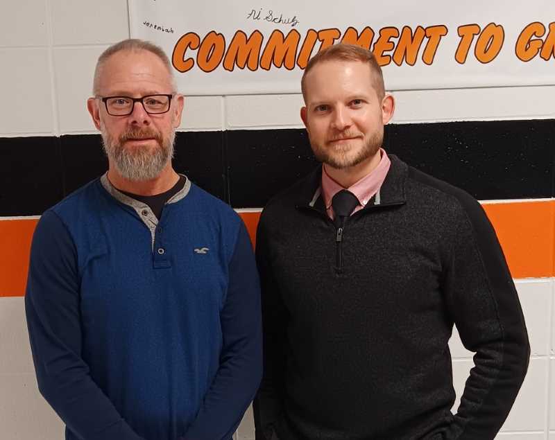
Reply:
[[[262,213],[257,439],[493,439],[509,414],[529,342],[495,231],[470,195],[390,157],[341,241],[314,203],[321,167]],[[456,414],[453,324],[476,353]]]

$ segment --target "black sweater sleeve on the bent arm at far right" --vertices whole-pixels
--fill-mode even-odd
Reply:
[[[445,274],[447,307],[466,348],[475,352],[449,439],[493,439],[527,371],[524,316],[495,231],[481,206],[461,200]]]

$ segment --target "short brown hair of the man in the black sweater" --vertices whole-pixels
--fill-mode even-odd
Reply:
[[[305,73],[302,73],[302,79],[300,80],[300,89],[302,91],[302,98],[305,99],[305,103],[307,100],[307,89],[305,84],[307,73],[309,73],[309,71],[311,71],[316,64],[333,60],[360,61],[368,63],[370,72],[373,76],[372,80],[374,82],[377,96],[379,99],[384,98],[384,75],[382,73],[382,68],[379,67],[379,64],[377,64],[374,54],[368,51],[368,49],[364,49],[356,44],[339,43],[322,49],[309,60],[307,67],[305,68]]]

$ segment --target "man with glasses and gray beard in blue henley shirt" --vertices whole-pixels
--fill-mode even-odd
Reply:
[[[87,102],[108,172],[33,236],[31,349],[67,440],[229,440],[259,384],[250,240],[171,166],[183,103],[160,48],[108,48]]]

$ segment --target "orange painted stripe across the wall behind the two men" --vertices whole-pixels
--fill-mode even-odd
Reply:
[[[555,201],[484,204],[513,278],[555,276]],[[255,245],[260,213],[240,212]],[[24,294],[37,220],[0,221],[0,297]]]

